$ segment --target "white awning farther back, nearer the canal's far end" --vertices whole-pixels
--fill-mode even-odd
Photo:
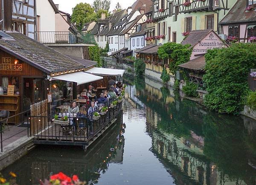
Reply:
[[[100,75],[100,76],[122,76],[125,72],[124,69],[109,69],[109,68],[101,68],[101,67],[93,67],[85,71],[87,73],[93,75]]]

